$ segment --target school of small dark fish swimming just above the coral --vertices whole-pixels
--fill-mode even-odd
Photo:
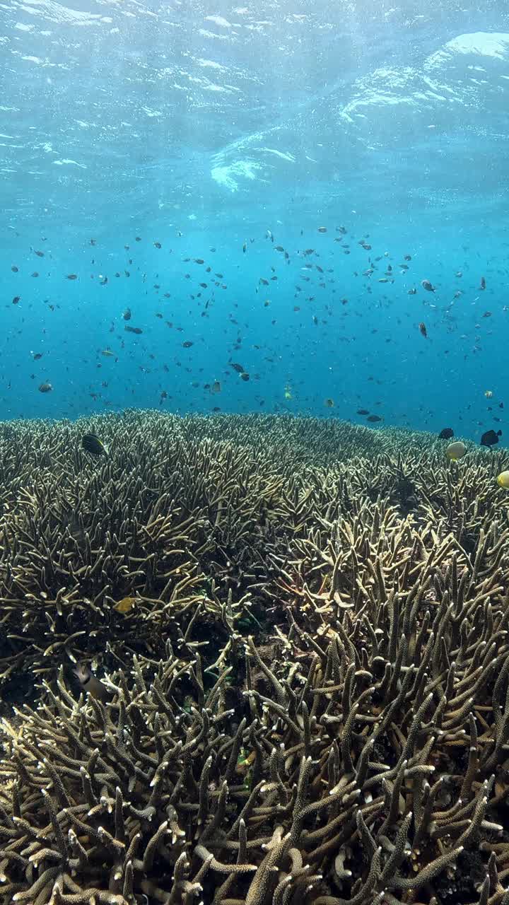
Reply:
[[[311,242],[308,241],[310,234],[314,236]],[[356,235],[344,225],[316,225],[314,229],[306,230],[305,235],[301,229],[297,240],[293,239],[291,242],[277,242],[273,231],[267,229],[261,235],[248,236],[239,241],[236,249],[226,249],[224,252],[218,251],[216,247],[200,250],[198,254],[183,252],[185,236],[181,231],[175,234],[170,243],[136,235],[114,250],[110,247],[102,248],[101,244],[99,237],[90,238],[82,250],[81,265],[74,262],[71,272],[67,272],[67,269],[59,271],[58,250],[53,252],[51,241],[42,236],[37,241],[37,247],[30,245],[26,249],[23,261],[8,262],[8,267],[5,268],[8,271],[7,279],[12,284],[12,292],[9,293],[11,302],[5,307],[13,311],[14,318],[8,329],[17,335],[23,334],[34,318],[34,309],[39,306],[44,311],[39,348],[27,349],[27,355],[34,362],[41,361],[41,365],[37,366],[40,370],[34,370],[30,375],[40,394],[56,395],[61,389],[58,380],[51,373],[52,358],[65,360],[63,347],[67,344],[67,339],[62,340],[61,348],[54,349],[52,332],[59,329],[59,320],[63,318],[64,310],[68,306],[72,307],[72,317],[78,325],[77,329],[80,329],[80,325],[83,328],[80,335],[83,354],[81,360],[73,357],[72,362],[67,362],[66,369],[70,375],[79,371],[80,376],[84,377],[93,403],[89,404],[92,410],[97,410],[98,405],[104,408],[119,405],[110,397],[109,392],[110,383],[115,381],[114,369],[118,366],[125,366],[130,374],[136,375],[138,383],[143,375],[157,374],[158,390],[152,404],[178,405],[178,400],[172,393],[172,376],[177,373],[177,368],[181,368],[188,377],[188,410],[195,408],[220,412],[221,406],[216,405],[216,397],[227,399],[227,391],[232,381],[236,380],[238,386],[248,385],[245,391],[249,393],[245,399],[245,411],[258,408],[312,414],[313,408],[321,405],[322,409],[334,410],[331,415],[338,414],[352,420],[361,417],[367,424],[392,424],[394,415],[390,405],[384,401],[383,390],[377,390],[375,394],[372,386],[360,387],[360,391],[352,398],[345,398],[341,391],[338,392],[338,384],[341,386],[341,380],[337,376],[341,367],[339,343],[355,342],[356,319],[368,319],[369,322],[375,311],[387,312],[388,326],[383,341],[389,344],[394,339],[394,331],[404,326],[400,312],[396,317],[390,315],[391,306],[397,295],[399,298],[401,294],[403,297],[412,297],[411,302],[408,300],[408,307],[403,315],[408,318],[409,343],[413,342],[411,334],[415,330],[427,340],[422,343],[422,347],[416,348],[416,354],[426,355],[426,349],[433,344],[438,332],[442,335],[455,333],[455,306],[464,305],[468,296],[469,303],[473,306],[475,342],[473,347],[466,350],[467,357],[482,351],[482,325],[494,314],[492,310],[482,310],[483,304],[477,306],[482,297],[478,295],[479,292],[484,293],[485,297],[490,295],[489,281],[478,272],[474,273],[473,278],[466,278],[465,274],[472,270],[468,249],[465,248],[465,260],[461,262],[461,266],[447,275],[447,286],[451,280],[456,281],[457,285],[451,297],[448,289],[448,294],[442,290],[444,275],[439,268],[436,274],[419,272],[416,253],[412,250],[412,253],[405,251],[398,255],[388,251],[376,253],[369,233]],[[151,267],[147,263],[151,260],[149,249],[155,249],[152,254],[156,260]],[[117,255],[117,265],[119,255],[122,258],[118,269],[106,266],[110,263],[113,252]],[[242,267],[250,262],[252,254],[255,255],[255,260],[250,264],[249,277],[241,298],[238,293],[238,271],[242,273]],[[352,266],[349,285],[351,280],[354,283],[357,281],[359,291],[355,297],[349,293],[347,298],[341,289],[341,275],[345,266],[343,256],[351,254],[354,264],[349,265]],[[34,258],[38,259],[39,270],[33,270]],[[235,264],[232,263],[234,260]],[[222,263],[218,264],[218,261]],[[229,275],[234,281],[234,290],[230,288],[226,262],[229,262]],[[259,268],[255,279],[253,263],[255,268]],[[37,291],[27,291],[24,288],[27,280],[32,279],[36,281],[34,285],[37,285]],[[131,300],[131,292],[122,293],[122,281],[129,281],[130,289],[133,282],[136,284],[137,303]],[[72,283],[72,287],[68,283]],[[87,337],[91,314],[83,297],[87,295],[91,283],[101,287],[100,291],[105,293],[102,297],[105,312],[103,322],[110,338],[105,343],[103,336],[99,347],[97,341],[94,341],[93,331]],[[62,284],[65,284],[66,292],[62,291]],[[44,297],[40,287],[43,287]],[[271,297],[266,298],[266,293]],[[127,307],[125,300],[123,305],[117,301],[123,294],[124,299],[126,296],[130,299]],[[108,324],[106,319],[115,309],[116,314]],[[264,310],[270,313],[263,314]],[[508,306],[504,306],[503,310],[508,310]],[[426,314],[426,320],[421,319],[423,314]],[[308,361],[312,357],[323,357],[326,349],[330,351],[331,338],[334,340],[337,360],[331,359],[331,384],[322,387],[321,402],[306,391],[305,381],[299,376],[294,338],[286,332],[288,315],[295,318],[295,336],[302,337],[303,331],[306,333],[305,355]],[[280,329],[282,316],[283,333]],[[262,340],[261,317],[264,318]],[[192,325],[192,329],[189,325]],[[315,332],[314,328],[317,328]],[[161,358],[161,331],[165,345],[168,345],[168,360]],[[379,331],[379,327],[373,327],[370,333],[377,334]],[[489,336],[492,332],[491,329],[485,329],[484,335]],[[212,335],[215,343],[217,337],[224,337],[221,340],[223,355],[220,357],[216,353],[213,356],[207,353]],[[378,338],[373,339],[373,343],[375,341]],[[33,331],[30,343],[34,345]],[[446,349],[444,355],[448,351]],[[369,361],[369,356],[362,357],[364,365]],[[279,384],[278,400],[274,399],[271,385],[274,383],[274,375],[281,373],[282,366],[286,368],[287,379],[282,379]],[[124,375],[126,370],[123,371]],[[7,374],[0,373],[0,380],[0,398],[7,402],[8,391],[13,390],[15,384],[13,385],[12,376],[8,377]],[[375,365],[373,374],[367,377],[367,381],[378,387],[393,384],[390,375],[384,373],[381,376],[376,372]],[[264,385],[267,387],[265,390]],[[124,405],[125,391],[135,395],[135,389],[137,387],[129,385],[123,387]],[[376,398],[376,395],[382,398]],[[484,395],[486,400],[493,400],[487,406],[486,417],[499,423],[502,420],[503,401],[497,398],[495,389],[484,390]],[[67,399],[66,405],[69,411],[65,414],[85,414],[82,400],[80,403],[73,403]],[[438,415],[432,409],[426,409],[425,402],[417,405],[420,411],[426,410],[427,422],[431,426]],[[498,414],[493,414],[494,406]],[[74,413],[72,409],[75,409]],[[458,414],[457,417],[461,421],[468,420],[467,412]],[[411,426],[411,413],[408,413],[408,418],[403,423]],[[502,436],[500,429],[488,427],[485,422],[477,421],[475,431],[478,428],[480,437],[477,442],[481,445],[493,446]],[[432,429],[436,429],[436,424]],[[446,428],[438,435],[441,439],[450,439],[454,432],[452,428]],[[456,451],[457,445],[452,443]],[[83,449],[92,456],[107,454],[101,440],[93,434],[84,439]],[[456,459],[461,454],[465,453],[449,457]]]

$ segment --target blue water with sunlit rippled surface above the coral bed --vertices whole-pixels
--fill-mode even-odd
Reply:
[[[509,439],[507,2],[6,0],[0,85],[0,418]]]

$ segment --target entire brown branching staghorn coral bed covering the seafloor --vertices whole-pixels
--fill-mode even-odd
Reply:
[[[1,445],[3,687],[35,687],[0,905],[509,905],[503,453],[152,413]]]

